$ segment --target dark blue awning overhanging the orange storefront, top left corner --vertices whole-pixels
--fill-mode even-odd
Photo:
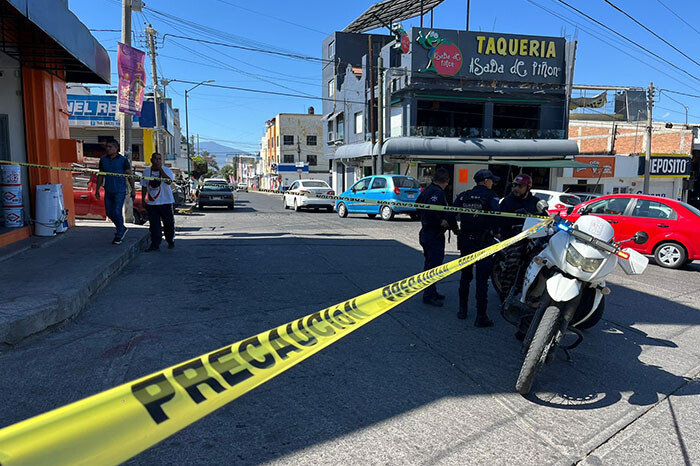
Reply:
[[[60,74],[66,82],[110,83],[107,51],[56,0],[0,0],[0,50],[29,68]]]

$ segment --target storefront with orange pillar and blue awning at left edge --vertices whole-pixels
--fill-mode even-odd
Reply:
[[[70,167],[82,159],[70,138],[66,83],[109,84],[107,51],[68,2],[0,0],[0,159]],[[70,172],[22,168],[24,225],[0,225],[0,246],[31,234],[36,186],[61,184],[75,223]]]

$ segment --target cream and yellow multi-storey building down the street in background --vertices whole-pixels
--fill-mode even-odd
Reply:
[[[306,114],[280,113],[268,120],[260,155],[264,189],[286,189],[300,178],[330,181],[321,115],[316,115],[313,107]]]

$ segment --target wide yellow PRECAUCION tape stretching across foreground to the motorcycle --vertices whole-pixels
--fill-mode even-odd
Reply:
[[[0,430],[0,465],[118,464],[230,403],[429,285],[547,225],[251,338]]]

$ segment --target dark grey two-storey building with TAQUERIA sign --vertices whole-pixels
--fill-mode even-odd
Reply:
[[[453,175],[449,195],[485,167],[506,180],[530,172],[549,188],[551,168],[576,153],[566,140],[575,47],[563,38],[397,27],[393,36],[336,32],[322,47],[336,191],[380,172],[428,183],[440,166]]]

